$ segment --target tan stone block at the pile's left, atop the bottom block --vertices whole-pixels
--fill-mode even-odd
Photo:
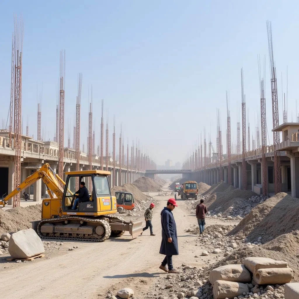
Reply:
[[[216,280],[249,283],[251,274],[244,265],[225,265],[210,272],[210,283],[213,285]]]

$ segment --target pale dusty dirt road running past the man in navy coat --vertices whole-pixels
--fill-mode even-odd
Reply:
[[[79,248],[50,259],[45,257],[22,263],[20,267],[14,265],[13,269],[1,267],[1,277],[9,282],[1,288],[1,297],[105,298],[108,290],[113,292],[122,287],[131,287],[135,290],[136,298],[146,298],[145,294],[155,284],[155,277],[166,275],[159,269],[164,257],[158,252],[161,243],[160,211],[168,198],[155,198],[159,201],[153,211],[155,237],[149,236],[148,229],[136,239],[125,234],[103,243],[69,242],[69,247],[78,245]],[[196,223],[196,218],[185,209],[183,201],[178,200],[178,204],[173,213],[178,228],[180,254],[173,257],[174,266],[182,263],[201,266],[204,260],[196,261],[194,258],[203,249],[193,246],[198,236],[184,232]],[[213,219],[213,224],[216,221]]]

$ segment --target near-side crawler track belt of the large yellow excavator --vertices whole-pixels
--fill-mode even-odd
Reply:
[[[55,233],[44,234],[41,232],[42,225],[44,225],[46,223],[51,224],[51,223],[61,222],[61,224],[64,224],[65,221],[78,221],[78,223],[83,221],[83,222],[86,222],[87,225],[88,225],[88,223],[91,223],[93,225],[98,224],[97,227],[101,226],[104,229],[104,233],[102,235],[97,235],[96,233],[94,233],[94,234],[84,234],[84,236],[78,236],[78,234],[76,234],[76,233],[67,233],[66,232],[66,233],[62,233],[62,234],[68,234],[68,236],[66,236],[66,235],[65,236],[64,235],[57,236],[57,235],[55,235]],[[110,228],[109,222],[104,219],[92,219],[92,218],[83,218],[83,217],[76,217],[76,216],[75,217],[59,217],[59,218],[45,219],[45,220],[40,221],[37,226],[37,233],[43,239],[103,242],[110,237],[111,228]],[[83,235],[83,234],[81,234],[81,235]]]

